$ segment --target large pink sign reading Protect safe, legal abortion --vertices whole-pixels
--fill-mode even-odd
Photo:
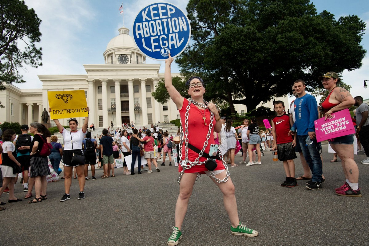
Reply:
[[[348,108],[334,112],[332,117],[333,118],[328,118],[327,120],[324,120],[323,117],[314,121],[317,142],[338,138],[348,134],[355,134],[354,124],[352,123]]]

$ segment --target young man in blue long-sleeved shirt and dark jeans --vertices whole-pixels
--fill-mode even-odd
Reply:
[[[315,97],[307,94],[305,91],[305,81],[298,79],[293,83],[295,93],[299,96],[294,103],[294,114],[296,121],[291,131],[297,130],[297,138],[299,138],[300,147],[307,164],[310,167],[313,178],[306,183],[309,190],[320,189],[322,178],[322,161],[320,159],[321,144],[317,143],[315,136],[314,121],[319,118],[317,100]]]

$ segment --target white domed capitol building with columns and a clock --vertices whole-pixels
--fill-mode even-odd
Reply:
[[[90,108],[89,124],[107,128],[110,121],[115,126],[135,122],[146,126],[154,122],[169,122],[179,119],[179,111],[172,100],[158,103],[151,93],[164,77],[159,73],[160,64],[146,64],[146,56],[137,48],[128,28],[119,29],[119,35],[111,39],[104,52],[105,64],[86,64],[84,75],[38,75],[42,89],[19,89],[13,84],[4,84],[0,91],[0,122],[19,122],[29,125],[41,122],[44,108],[48,109],[48,91],[85,90]],[[173,73],[173,76],[180,76]],[[286,111],[287,97],[283,100]],[[271,102],[263,104],[273,108]],[[246,106],[235,104],[238,113],[246,112]],[[83,122],[84,118],[77,118]],[[68,125],[67,119],[60,119]],[[49,118],[50,122],[50,118]],[[50,122],[54,125],[54,121]]]

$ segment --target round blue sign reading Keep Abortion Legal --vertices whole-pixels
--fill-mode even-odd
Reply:
[[[144,7],[133,23],[136,45],[149,58],[165,60],[184,51],[191,37],[187,15],[170,3]]]

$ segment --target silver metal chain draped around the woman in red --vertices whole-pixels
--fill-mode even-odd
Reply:
[[[189,99],[189,102],[188,102],[188,105],[186,107],[186,114],[185,114],[185,120],[184,120],[184,125],[186,127],[186,131],[184,131],[184,153],[185,153],[185,157],[184,157],[184,162],[182,162],[182,142],[183,142],[183,127],[182,127],[182,124],[180,126],[180,143],[179,143],[179,153],[178,153],[178,156],[179,156],[179,161],[180,161],[180,165],[182,166],[182,171],[179,173],[179,177],[178,177],[178,183],[180,183],[181,179],[182,179],[182,176],[183,176],[183,173],[185,170],[187,169],[190,169],[191,167],[195,166],[195,165],[202,165],[204,163],[206,163],[206,161],[203,161],[203,162],[199,162],[199,159],[200,157],[203,155],[204,151],[205,151],[205,148],[206,146],[208,145],[208,141],[210,139],[210,134],[211,134],[211,128],[213,128],[213,120],[214,120],[214,114],[213,112],[211,112],[210,110],[210,124],[209,124],[209,130],[208,130],[208,133],[206,135],[206,141],[204,142],[204,146],[203,148],[201,149],[200,153],[199,153],[199,156],[193,161],[191,162],[189,159],[188,159],[188,117],[189,117],[189,111],[190,111],[190,105],[191,103],[193,103],[194,105],[199,105],[200,107],[204,108],[204,109],[208,109],[207,105],[209,104],[207,101],[203,100],[204,103],[197,103],[195,102],[194,100],[192,99]],[[219,152],[219,156],[222,160],[222,163],[225,167],[225,170],[226,170],[226,174],[227,176],[223,179],[223,180],[220,180],[218,178],[215,177],[215,174],[213,172],[211,172],[211,177],[213,177],[213,179],[215,179],[216,182],[218,183],[221,183],[221,182],[227,182],[228,180],[228,177],[230,176],[230,173],[228,171],[228,166],[227,166],[227,163],[224,161],[223,159],[223,155],[221,155],[220,151],[218,150]],[[197,174],[197,177],[196,177],[196,180],[195,180],[195,183],[197,182],[197,180],[201,177],[201,174],[198,173]]]

